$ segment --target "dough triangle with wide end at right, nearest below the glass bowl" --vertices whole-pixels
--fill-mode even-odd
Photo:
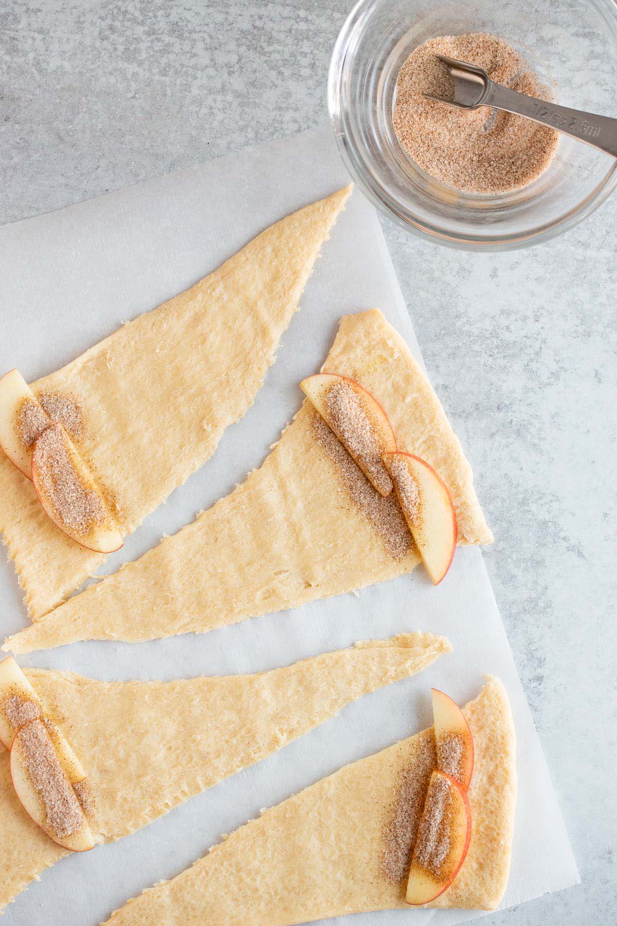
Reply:
[[[343,318],[325,367],[361,382],[385,407],[401,448],[437,469],[456,508],[459,543],[489,543],[461,444],[409,347],[381,312]],[[411,571],[418,562],[413,548],[390,556],[350,504],[315,440],[315,414],[305,402],[262,467],[234,492],[3,648],[28,653],[77,640],[205,632]]]

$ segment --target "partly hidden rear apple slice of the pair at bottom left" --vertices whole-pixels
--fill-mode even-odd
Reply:
[[[10,749],[19,728],[30,720],[40,718],[56,749],[60,765],[69,782],[78,784],[86,777],[79,758],[67,740],[45,713],[39,695],[36,694],[24,673],[12,656],[0,662],[0,741]]]

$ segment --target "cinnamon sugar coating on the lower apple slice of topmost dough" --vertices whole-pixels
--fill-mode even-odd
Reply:
[[[82,484],[68,452],[62,425],[53,425],[41,434],[35,453],[43,489],[68,528],[86,534],[94,524],[105,521],[105,506],[92,489]]]

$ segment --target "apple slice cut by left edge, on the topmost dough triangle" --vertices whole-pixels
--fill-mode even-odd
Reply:
[[[11,463],[31,479],[32,445],[51,419],[19,369],[0,379],[0,446]]]

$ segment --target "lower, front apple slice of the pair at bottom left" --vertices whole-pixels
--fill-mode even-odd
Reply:
[[[72,852],[87,852],[96,845],[43,720],[30,720],[19,728],[10,770],[19,801],[50,839]]]

